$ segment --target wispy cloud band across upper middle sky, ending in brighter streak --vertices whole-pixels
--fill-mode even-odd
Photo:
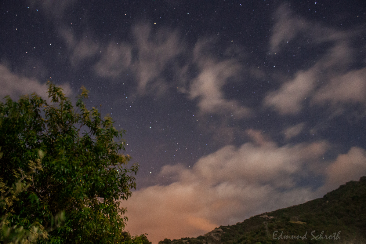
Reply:
[[[76,49],[78,44],[72,34],[65,31],[63,36]],[[201,115],[226,114],[243,118],[251,114],[250,109],[238,101],[225,98],[223,86],[233,79],[242,82],[239,76],[243,66],[235,58],[216,60],[211,52],[203,52],[212,40],[198,41],[194,48],[189,48],[178,31],[166,27],[154,30],[143,23],[132,27],[132,39],[131,44],[110,42],[94,66],[96,73],[116,78],[131,71],[137,82],[136,92],[141,96],[159,96],[167,94],[170,88],[177,88],[187,94],[188,99],[197,100]],[[85,50],[91,49],[84,46]],[[192,74],[188,75],[190,72]]]

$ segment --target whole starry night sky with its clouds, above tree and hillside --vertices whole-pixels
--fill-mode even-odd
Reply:
[[[365,37],[361,0],[3,0],[0,96],[84,85],[141,166],[126,230],[156,244],[366,175]]]

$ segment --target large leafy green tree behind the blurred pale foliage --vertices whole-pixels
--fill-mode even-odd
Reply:
[[[124,131],[113,127],[111,117],[102,119],[96,108],[86,108],[84,87],[75,110],[62,89],[48,83],[50,104],[35,93],[0,103],[4,189],[22,179],[30,162],[41,162],[23,178],[27,188],[0,210],[1,216],[7,215],[10,226],[29,230],[38,223],[49,229],[53,216],[64,211],[64,225],[51,230],[42,243],[126,242],[127,217],[121,216],[126,209],[120,200],[136,187],[138,164],[126,167],[130,156],[121,153]]]

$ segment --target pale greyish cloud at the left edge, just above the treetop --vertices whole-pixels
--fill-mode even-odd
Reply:
[[[44,83],[27,78],[24,76],[19,76],[12,73],[7,67],[0,64],[0,98],[3,99],[5,96],[9,95],[11,99],[18,100],[19,96],[31,95],[36,92],[43,99],[48,98],[48,86]],[[66,96],[72,94],[72,90],[68,83],[61,85]]]

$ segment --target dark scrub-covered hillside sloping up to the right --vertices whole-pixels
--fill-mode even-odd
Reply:
[[[324,197],[159,244],[366,243],[366,176]]]

